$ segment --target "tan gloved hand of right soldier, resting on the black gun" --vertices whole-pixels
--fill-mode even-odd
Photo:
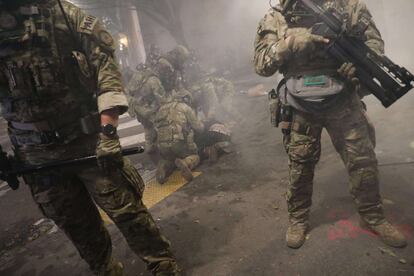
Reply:
[[[289,50],[295,55],[306,55],[316,50],[317,44],[327,44],[329,39],[314,35],[308,29],[295,30],[288,33],[286,43]]]

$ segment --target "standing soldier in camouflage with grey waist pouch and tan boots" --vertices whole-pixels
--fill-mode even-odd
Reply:
[[[327,54],[329,39],[311,33],[318,18],[298,2],[294,1],[292,12],[282,15],[288,2],[281,0],[280,7],[270,9],[261,20],[254,58],[259,75],[268,77],[280,72],[285,78],[278,93],[289,156],[287,245],[299,248],[306,240],[314,171],[321,153],[321,132],[326,128],[348,170],[350,191],[362,225],[387,245],[404,247],[405,237],[384,216],[375,138],[370,137],[372,129],[360,100],[356,68],[349,63],[339,64]],[[384,42],[365,4],[359,0],[315,2],[339,11],[349,34],[383,53]]]

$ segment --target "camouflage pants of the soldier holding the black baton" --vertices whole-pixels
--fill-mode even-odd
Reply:
[[[92,166],[34,174],[25,180],[43,214],[66,233],[94,273],[104,274],[112,248],[94,202],[114,221],[149,270],[175,269],[170,244],[141,201],[144,183],[128,159],[122,170],[109,176]]]

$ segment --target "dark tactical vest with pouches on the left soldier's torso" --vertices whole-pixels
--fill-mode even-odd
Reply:
[[[93,74],[51,2],[0,11],[0,104],[16,147],[96,132]]]

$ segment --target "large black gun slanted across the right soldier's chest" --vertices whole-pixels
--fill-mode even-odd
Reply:
[[[295,3],[320,20],[313,26],[312,33],[330,39],[326,51],[339,62],[353,63],[361,84],[384,107],[391,106],[413,88],[414,75],[388,57],[375,53],[362,40],[349,35],[338,12],[324,10],[313,0],[289,0],[282,14],[292,13]]]

